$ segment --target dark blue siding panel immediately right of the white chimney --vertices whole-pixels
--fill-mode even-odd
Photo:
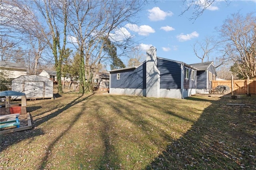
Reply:
[[[157,59],[160,71],[160,89],[181,89],[181,64],[164,59]]]

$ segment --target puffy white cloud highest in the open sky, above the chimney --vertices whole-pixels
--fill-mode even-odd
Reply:
[[[148,18],[151,21],[160,21],[160,20],[164,20],[166,18],[166,16],[172,16],[173,13],[171,11],[165,12],[163,10],[160,10],[159,7],[154,7],[151,10],[148,10],[149,15]]]

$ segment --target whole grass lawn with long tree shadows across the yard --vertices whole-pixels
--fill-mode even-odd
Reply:
[[[0,169],[256,168],[256,96],[65,93],[27,111],[32,129],[1,135]]]

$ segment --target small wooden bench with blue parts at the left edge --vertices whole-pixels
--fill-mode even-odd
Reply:
[[[0,116],[0,128],[5,127],[13,127],[16,126],[17,128],[20,127],[20,120],[19,117],[20,114],[10,114],[10,115],[1,115]],[[7,119],[6,121],[2,121],[3,119]]]

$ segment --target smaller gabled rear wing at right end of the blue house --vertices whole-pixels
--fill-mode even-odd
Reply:
[[[209,94],[212,89],[212,80],[216,80],[216,70],[213,61],[190,64],[196,67],[196,93]]]

